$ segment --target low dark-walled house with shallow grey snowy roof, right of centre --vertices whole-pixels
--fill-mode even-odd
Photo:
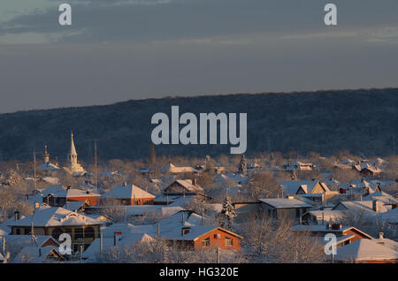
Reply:
[[[294,219],[300,220],[312,206],[303,201],[295,199],[293,196],[288,198],[268,198],[259,199],[262,212],[272,219]]]

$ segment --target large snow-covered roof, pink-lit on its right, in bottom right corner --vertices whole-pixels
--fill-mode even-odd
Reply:
[[[337,248],[336,261],[390,261],[398,259],[398,252],[371,239],[358,239],[347,246]]]

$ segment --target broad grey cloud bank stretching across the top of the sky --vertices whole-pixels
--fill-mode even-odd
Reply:
[[[74,31],[74,35],[65,35],[62,42],[145,42],[260,32],[319,32],[325,30],[323,6],[326,2],[71,0],[72,27],[57,25],[59,12],[57,7],[53,7],[4,23],[0,34],[59,33],[68,28]],[[338,4],[341,28],[398,21],[392,12],[398,10],[398,3],[394,0],[386,0],[382,8],[374,1],[334,2]],[[379,9],[386,11],[383,16]],[[373,10],[376,11],[374,14]]]

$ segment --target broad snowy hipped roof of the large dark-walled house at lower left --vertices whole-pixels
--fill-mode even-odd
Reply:
[[[48,207],[45,209],[38,209],[32,216],[27,216],[19,219],[16,222],[11,222],[9,226],[61,226],[61,225],[95,225],[103,224],[91,217],[83,216],[68,209],[60,207]]]

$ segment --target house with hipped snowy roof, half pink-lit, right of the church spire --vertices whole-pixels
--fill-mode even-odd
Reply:
[[[149,194],[135,185],[116,186],[101,196],[102,203],[106,199],[119,201],[120,205],[153,205],[155,195]]]

